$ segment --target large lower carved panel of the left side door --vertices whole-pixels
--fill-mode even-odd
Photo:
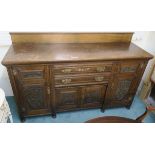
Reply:
[[[44,84],[23,84],[21,95],[28,115],[50,112],[47,88]]]

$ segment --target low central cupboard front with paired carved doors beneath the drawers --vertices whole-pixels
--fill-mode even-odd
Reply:
[[[107,84],[56,88],[57,111],[101,107],[106,88]]]

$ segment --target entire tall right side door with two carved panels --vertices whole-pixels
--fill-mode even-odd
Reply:
[[[131,105],[147,63],[123,63],[109,83],[103,108]]]

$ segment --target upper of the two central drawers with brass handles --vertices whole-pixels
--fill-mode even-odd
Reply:
[[[54,74],[83,74],[111,72],[112,64],[77,64],[77,65],[54,65]]]

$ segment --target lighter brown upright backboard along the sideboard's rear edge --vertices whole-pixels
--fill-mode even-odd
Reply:
[[[130,42],[133,33],[11,33],[13,43]]]

